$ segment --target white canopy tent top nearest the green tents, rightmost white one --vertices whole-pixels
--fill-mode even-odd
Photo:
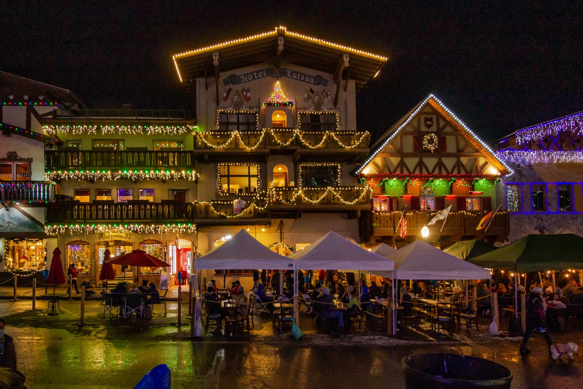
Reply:
[[[395,279],[490,279],[490,271],[470,264],[437,247],[416,240],[385,255],[394,261],[394,271],[374,271],[367,274]]]

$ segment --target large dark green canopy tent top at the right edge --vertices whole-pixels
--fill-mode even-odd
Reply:
[[[581,247],[583,237],[575,234],[530,234],[468,261],[484,268],[519,273],[582,269]]]

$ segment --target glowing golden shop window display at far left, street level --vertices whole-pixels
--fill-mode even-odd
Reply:
[[[47,267],[46,248],[45,239],[6,239],[6,270],[44,270]]]

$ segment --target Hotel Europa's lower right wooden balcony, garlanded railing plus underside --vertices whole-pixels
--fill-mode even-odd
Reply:
[[[368,188],[272,187],[268,189],[268,199],[271,215],[295,211],[347,212],[371,209],[371,191]],[[356,213],[353,216],[358,215]]]

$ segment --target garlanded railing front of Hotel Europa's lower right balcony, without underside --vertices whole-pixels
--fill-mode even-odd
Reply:
[[[366,205],[371,206],[368,188],[328,187],[296,188],[271,187],[268,189],[270,205]]]

